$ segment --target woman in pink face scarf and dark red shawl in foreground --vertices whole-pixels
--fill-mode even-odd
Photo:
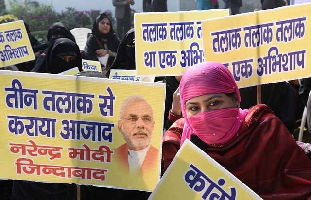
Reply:
[[[184,118],[164,134],[163,173],[189,139],[265,200],[311,199],[311,161],[269,107],[240,108],[237,84],[224,65],[189,67],[179,91]],[[170,112],[169,119],[178,115]]]

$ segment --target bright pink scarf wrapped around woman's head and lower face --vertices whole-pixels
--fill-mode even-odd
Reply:
[[[185,116],[185,127],[181,144],[190,135],[197,135],[207,144],[224,144],[241,127],[248,110],[223,108],[186,117],[185,103],[194,98],[212,93],[230,94],[235,92],[241,101],[240,92],[231,72],[221,63],[203,62],[189,67],[179,85],[180,104]]]

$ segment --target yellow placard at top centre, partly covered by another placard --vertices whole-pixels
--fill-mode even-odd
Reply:
[[[137,75],[181,75],[203,62],[201,21],[228,15],[229,9],[135,13]]]

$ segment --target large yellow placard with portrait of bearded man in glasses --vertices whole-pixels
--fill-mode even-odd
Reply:
[[[0,80],[0,179],[154,190],[164,83],[4,70]],[[127,101],[133,95],[145,103]],[[141,168],[132,171],[127,147],[143,145]]]

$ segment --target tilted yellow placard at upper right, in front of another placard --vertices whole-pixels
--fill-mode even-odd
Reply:
[[[310,77],[310,10],[305,3],[204,21],[205,60],[227,66],[240,88]]]

